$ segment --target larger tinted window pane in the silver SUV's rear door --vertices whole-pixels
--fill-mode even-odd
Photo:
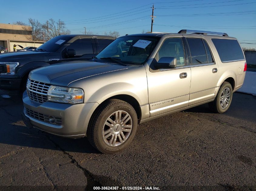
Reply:
[[[187,38],[192,64],[208,63],[206,51],[201,38]]]

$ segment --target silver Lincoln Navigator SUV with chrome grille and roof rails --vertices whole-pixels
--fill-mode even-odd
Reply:
[[[226,33],[126,35],[91,61],[33,70],[23,120],[63,137],[87,135],[99,151],[115,153],[129,145],[139,123],[203,103],[224,113],[245,71],[241,46]]]

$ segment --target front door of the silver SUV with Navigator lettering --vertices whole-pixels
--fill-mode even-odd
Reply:
[[[166,38],[155,61],[176,57],[177,67],[147,71],[150,117],[188,106],[191,70],[185,65],[184,52],[182,37]]]

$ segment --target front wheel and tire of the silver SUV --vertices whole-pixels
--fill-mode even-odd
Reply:
[[[134,108],[125,101],[110,99],[102,103],[92,115],[87,137],[98,151],[113,154],[128,147],[137,126],[138,118]]]

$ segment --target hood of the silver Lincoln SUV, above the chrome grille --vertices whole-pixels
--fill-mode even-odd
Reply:
[[[129,67],[101,62],[73,61],[35,69],[30,73],[29,78],[47,84],[68,86],[72,81],[81,78],[126,68]]]

